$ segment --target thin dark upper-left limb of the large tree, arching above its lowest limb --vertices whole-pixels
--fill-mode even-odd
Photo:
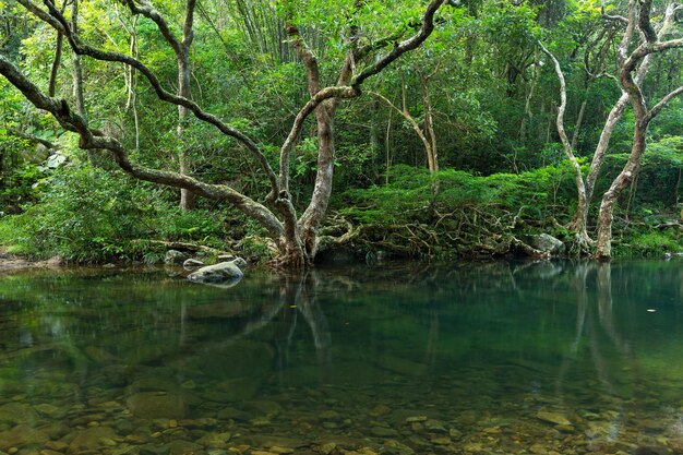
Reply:
[[[95,60],[123,63],[136,69],[147,79],[147,82],[149,82],[149,85],[152,86],[159,99],[176,106],[182,106],[188,108],[192,111],[192,113],[194,113],[197,119],[213,124],[216,129],[218,129],[218,131],[220,131],[225,135],[233,137],[242,143],[247,147],[247,149],[256,158],[256,160],[261,165],[261,168],[266,173],[271,183],[272,191],[278,192],[277,177],[273,171],[273,168],[271,167],[266,156],[251,137],[237,130],[236,128],[225,123],[216,116],[204,111],[196,103],[181,96],[173,95],[172,93],[166,91],[164,87],[161,87],[161,83],[159,82],[156,74],[154,74],[154,72],[152,72],[152,70],[149,70],[140,60],[124,53],[105,51],[84,44],[77,35],[73,34],[64,17],[49,0],[45,0],[46,5],[50,10],[49,14],[40,8],[36,7],[33,2],[31,2],[31,0],[17,1],[33,14],[52,26],[55,29],[57,29],[58,32],[62,32],[69,40],[69,44],[74,52],[82,56],[88,56]]]

